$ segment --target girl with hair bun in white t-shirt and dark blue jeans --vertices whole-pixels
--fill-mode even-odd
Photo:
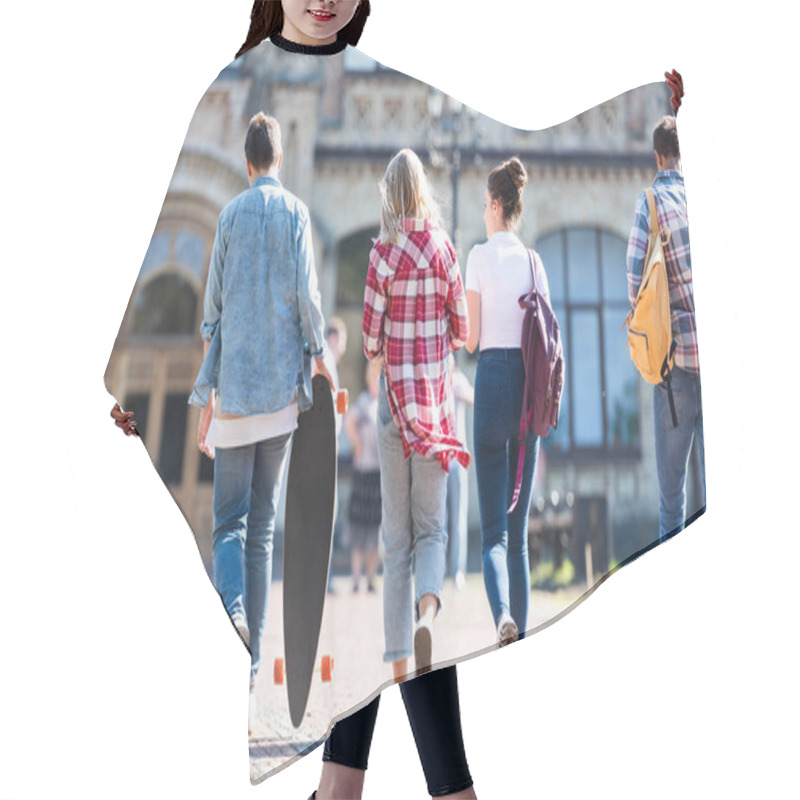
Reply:
[[[510,158],[489,173],[483,221],[487,240],[467,258],[467,350],[480,346],[475,374],[474,457],[478,476],[483,579],[500,646],[524,635],[528,623],[528,511],[539,439],[528,435],[519,500],[509,514],[519,458],[525,386],[518,299],[533,282],[533,253],[514,232],[522,216],[525,167]],[[541,261],[537,282],[549,294]]]

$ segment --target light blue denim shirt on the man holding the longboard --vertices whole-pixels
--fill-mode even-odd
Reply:
[[[324,320],[308,209],[269,176],[219,215],[200,328],[208,353],[189,402],[219,392],[219,412],[279,411],[312,404],[311,358]]]

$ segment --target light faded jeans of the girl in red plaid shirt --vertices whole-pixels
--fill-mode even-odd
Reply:
[[[413,652],[413,618],[420,598],[435,595],[441,608],[447,549],[447,473],[433,456],[412,453],[406,460],[383,376],[378,392],[378,455],[384,540],[383,659],[399,661]],[[413,603],[412,571],[416,585]]]

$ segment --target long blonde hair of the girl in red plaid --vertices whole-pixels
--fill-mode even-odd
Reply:
[[[441,225],[439,204],[413,150],[406,147],[392,158],[379,187],[382,244],[397,244],[404,219],[427,219]]]

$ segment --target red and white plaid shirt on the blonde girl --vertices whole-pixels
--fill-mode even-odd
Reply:
[[[434,455],[445,471],[470,455],[456,436],[447,359],[469,332],[453,245],[428,220],[406,219],[397,244],[375,243],[364,292],[364,352],[383,356],[389,408],[406,458]]]

